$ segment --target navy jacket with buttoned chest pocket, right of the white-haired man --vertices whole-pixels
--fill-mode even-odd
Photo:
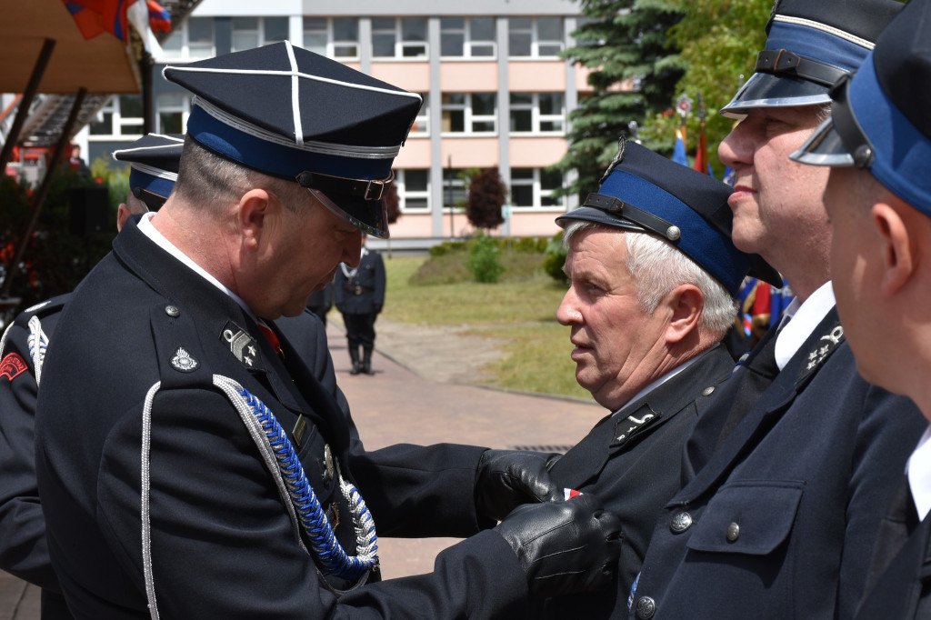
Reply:
[[[742,379],[696,437],[722,427]],[[685,464],[695,478],[660,514],[630,617],[852,617],[903,446],[925,426],[911,400],[860,378],[831,309],[707,464]]]

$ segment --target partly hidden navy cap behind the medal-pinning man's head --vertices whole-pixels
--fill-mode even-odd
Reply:
[[[159,209],[178,181],[184,136],[150,133],[125,149],[114,151],[116,161],[129,163],[129,189],[152,210]]]

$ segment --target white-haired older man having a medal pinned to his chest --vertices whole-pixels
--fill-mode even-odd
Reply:
[[[575,377],[613,411],[553,467],[569,492],[595,493],[621,519],[617,587],[546,601],[541,616],[627,613],[655,515],[679,490],[681,452],[734,370],[721,343],[748,272],[779,282],[730,239],[731,188],[633,142],[600,190],[560,215],[571,286],[557,318],[572,328]]]

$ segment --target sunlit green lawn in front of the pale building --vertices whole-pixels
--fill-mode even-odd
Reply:
[[[540,261],[542,262],[542,255]],[[519,257],[521,260],[526,257]],[[575,383],[569,329],[556,321],[565,288],[542,270],[496,284],[457,282],[412,286],[425,258],[385,257],[384,317],[406,323],[470,326],[470,333],[506,339],[506,356],[488,367],[498,387],[591,398]],[[506,259],[503,261],[506,263]]]

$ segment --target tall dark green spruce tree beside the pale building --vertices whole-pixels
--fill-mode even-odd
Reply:
[[[577,170],[561,195],[580,196],[598,189],[601,174],[617,153],[620,135],[630,137],[629,123],[642,126],[672,107],[684,69],[668,29],[681,20],[681,6],[668,0],[580,0],[587,18],[573,36],[576,47],[563,58],[592,70],[595,92],[569,115],[572,127],[566,155],[555,168]],[[644,142],[668,149],[662,142]]]

